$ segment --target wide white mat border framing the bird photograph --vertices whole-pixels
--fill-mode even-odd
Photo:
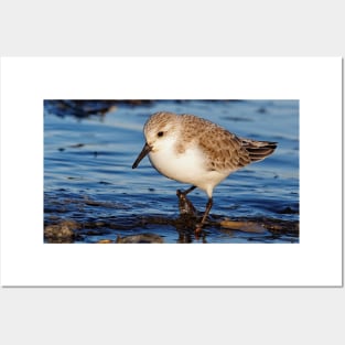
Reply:
[[[43,99],[300,99],[301,244],[44,245]],[[341,285],[342,60],[1,60],[1,284]]]

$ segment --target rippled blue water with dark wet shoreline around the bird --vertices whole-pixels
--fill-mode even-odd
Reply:
[[[148,158],[131,169],[144,142],[143,123],[162,110],[279,143],[265,161],[215,188],[201,236],[195,219],[180,217],[176,190],[187,185],[160,175]],[[202,214],[206,194],[195,190],[188,198]],[[51,236],[63,222],[69,222],[69,236]],[[299,101],[46,100],[44,225],[45,242],[299,242]]]

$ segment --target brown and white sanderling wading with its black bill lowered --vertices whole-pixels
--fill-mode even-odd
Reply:
[[[183,196],[196,187],[206,192],[208,202],[196,230],[201,230],[213,205],[214,187],[230,173],[263,160],[277,142],[240,138],[194,115],[161,111],[143,127],[145,144],[132,169],[149,154],[151,164],[164,176],[191,184]],[[180,191],[177,191],[181,194]]]

